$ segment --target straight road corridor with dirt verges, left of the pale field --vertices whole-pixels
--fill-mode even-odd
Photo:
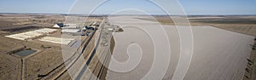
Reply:
[[[88,40],[89,42],[84,44],[84,47],[81,50],[82,54],[79,54],[75,60],[71,62],[71,65],[68,64],[66,66],[66,72],[68,71],[73,79],[95,80],[96,78],[105,78],[104,76],[106,76],[107,68],[103,65],[108,64],[110,52],[109,45],[103,46],[102,42],[104,42],[105,39],[110,42],[109,37],[111,37],[111,34],[108,34],[109,39],[106,38],[107,34],[105,33],[107,31],[104,28],[105,21],[107,20],[104,19],[98,29],[92,33],[93,36],[90,37],[90,40]],[[64,72],[65,71],[61,74]],[[58,77],[61,77],[61,75]],[[55,79],[58,77],[55,77]]]

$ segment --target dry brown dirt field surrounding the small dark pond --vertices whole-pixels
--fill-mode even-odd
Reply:
[[[24,79],[36,79],[39,74],[51,71],[55,66],[60,65],[63,62],[61,57],[61,45],[53,43],[44,43],[39,41],[20,41],[9,37],[1,36],[1,77],[2,79],[17,78],[20,79],[20,75],[24,75]],[[41,47],[50,47],[44,49]],[[13,55],[6,54],[12,49],[17,47],[26,46],[27,48],[36,49],[36,54],[31,54],[27,58],[17,58]],[[55,58],[49,57],[54,56]],[[22,68],[21,68],[21,60]],[[20,73],[21,69],[24,73]]]

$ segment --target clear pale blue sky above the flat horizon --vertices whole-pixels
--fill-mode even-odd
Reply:
[[[97,1],[97,0],[94,0]],[[147,0],[108,0],[106,3],[91,3],[93,0],[1,0],[0,13],[32,14],[137,14],[137,9],[147,14],[166,14],[160,6]],[[256,0],[178,0],[186,14],[256,14]],[[101,4],[101,5],[98,5]],[[170,9],[177,9],[172,7]]]

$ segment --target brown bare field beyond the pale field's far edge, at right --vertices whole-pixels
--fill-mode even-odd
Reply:
[[[154,16],[155,20],[140,18],[141,20],[159,21],[164,25],[174,26],[169,16]],[[256,16],[189,16],[191,26],[214,26],[228,31],[256,36]]]

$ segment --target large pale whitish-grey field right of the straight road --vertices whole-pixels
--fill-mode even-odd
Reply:
[[[158,23],[146,20],[138,20],[138,18],[145,18],[140,16],[120,16],[110,17],[111,24],[123,27],[124,32],[116,33],[113,35],[115,41],[115,49],[113,51],[113,59],[119,62],[125,62],[132,56],[126,53],[127,47],[131,43],[137,43],[143,50],[142,60],[138,66],[132,71],[118,72],[109,70],[107,78],[111,80],[131,80],[141,79],[145,77],[151,66],[154,64],[154,45],[146,33],[149,27],[160,27]],[[125,20],[124,20],[125,19]],[[138,23],[139,22],[139,23]],[[136,28],[140,27],[140,28]],[[184,26],[177,26],[183,28]],[[166,30],[167,37],[170,40],[172,54],[170,62],[166,71],[164,80],[172,79],[177,68],[177,63],[180,55],[180,44],[177,29],[174,26],[163,26]],[[148,29],[150,30],[150,28]],[[149,34],[160,32],[160,29],[148,31]],[[244,69],[247,65],[247,57],[252,49],[247,46],[253,44],[254,37],[244,34],[225,31],[222,29],[214,28],[212,26],[192,26],[194,36],[194,53],[192,56],[189,70],[185,75],[185,80],[219,80],[219,79],[235,79],[241,80],[243,77]],[[127,38],[128,37],[128,38]],[[152,38],[151,38],[152,39]],[[161,41],[159,41],[161,42]],[[161,50],[160,50],[161,51]],[[155,53],[160,54],[160,53]],[[169,53],[166,53],[169,54]],[[133,56],[134,57],[134,56]],[[132,60],[133,58],[131,58]],[[110,66],[113,61],[110,61]],[[164,59],[163,59],[164,60]],[[161,60],[161,62],[163,62]],[[161,63],[160,63],[161,64]],[[165,64],[161,64],[164,66]],[[129,68],[124,66],[119,68]],[[161,71],[161,68],[157,68]],[[162,71],[165,72],[165,71]],[[161,72],[160,72],[161,73]],[[155,72],[154,76],[160,76]],[[153,77],[154,78],[154,77]]]

